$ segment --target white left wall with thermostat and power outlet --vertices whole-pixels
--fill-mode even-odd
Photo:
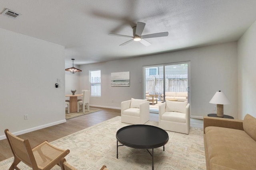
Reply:
[[[66,122],[64,47],[5,29],[0,37],[0,139],[6,128],[19,135]]]

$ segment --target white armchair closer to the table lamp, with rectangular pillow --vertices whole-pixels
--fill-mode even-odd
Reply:
[[[159,127],[166,131],[189,133],[190,104],[168,101],[159,105]]]

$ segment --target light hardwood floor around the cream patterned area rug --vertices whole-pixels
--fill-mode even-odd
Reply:
[[[97,107],[91,107],[97,108]],[[22,139],[28,139],[32,147],[38,145],[42,141],[47,140],[48,142],[55,141],[87,127],[96,125],[108,119],[111,119],[116,116],[120,116],[121,112],[119,109],[107,109],[107,108],[98,108],[102,109],[88,115],[75,117],[73,119],[68,119],[66,123],[61,123],[59,125],[54,125],[30,133],[25,133],[18,135]],[[150,113],[151,121],[158,121],[158,114]],[[203,127],[203,121],[199,119],[191,119],[191,127]],[[0,161],[12,157],[12,151],[9,147],[7,139],[0,141]]]

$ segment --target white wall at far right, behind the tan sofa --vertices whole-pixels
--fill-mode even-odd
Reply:
[[[256,117],[256,21],[238,41],[238,113]]]

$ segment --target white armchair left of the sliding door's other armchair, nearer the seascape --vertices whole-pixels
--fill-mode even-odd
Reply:
[[[121,122],[144,124],[149,121],[149,102],[147,99],[134,99],[121,102]]]

